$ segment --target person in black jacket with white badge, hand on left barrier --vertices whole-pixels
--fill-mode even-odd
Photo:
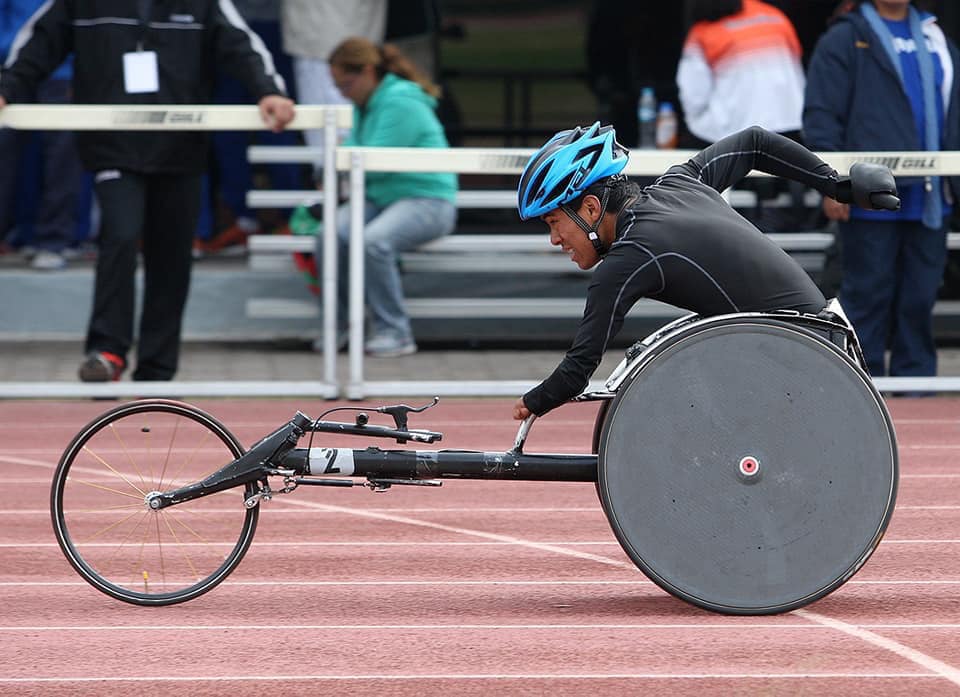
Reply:
[[[213,101],[219,64],[257,100],[264,123],[294,117],[283,79],[230,0],[51,0],[23,26],[0,73],[0,108],[25,101],[70,53],[80,104]],[[176,373],[207,135],[91,131],[77,136],[100,204],[93,309],[80,379],[118,380],[133,343],[134,275],[144,290],[134,380]]]

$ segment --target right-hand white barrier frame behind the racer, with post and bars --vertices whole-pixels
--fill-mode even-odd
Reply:
[[[459,174],[519,175],[534,151],[524,148],[371,148],[341,147],[337,150],[337,169],[349,171],[350,206],[350,375],[346,396],[363,399],[369,395],[398,396],[455,394],[462,383],[417,380],[365,382],[363,378],[363,278],[355,271],[363,265],[363,176],[366,172],[456,172]],[[692,150],[636,150],[624,173],[631,176],[658,176],[672,165],[695,154]],[[897,176],[946,176],[960,174],[960,152],[832,152],[819,156],[841,174],[856,162],[884,164]],[[751,175],[759,175],[751,172]],[[357,186],[359,182],[359,186]],[[355,259],[356,257],[356,259]],[[559,358],[559,355],[558,355]],[[546,372],[544,373],[545,377]],[[878,389],[895,392],[960,391],[960,379],[950,378],[876,378]],[[531,383],[532,384],[532,383]],[[496,386],[483,395],[501,394]],[[448,391],[450,390],[450,391]],[[459,394],[464,394],[459,392]]]

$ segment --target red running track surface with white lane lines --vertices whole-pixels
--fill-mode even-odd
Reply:
[[[445,400],[411,425],[502,451],[510,404]],[[0,404],[0,694],[960,694],[958,400],[891,402],[901,482],[886,538],[837,592],[775,617],[707,613],[647,581],[592,485],[516,482],[301,489],[264,504],[218,588],[121,603],[74,573],[48,512],[60,453],[111,406]],[[249,444],[330,405],[198,406]],[[587,452],[593,417],[564,407],[527,450]]]

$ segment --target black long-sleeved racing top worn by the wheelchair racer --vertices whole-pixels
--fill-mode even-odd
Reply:
[[[849,201],[849,180],[797,143],[749,128],[668,169],[617,216],[616,239],[593,272],[573,346],[524,395],[542,415],[580,394],[640,298],[700,315],[817,313],[826,300],[806,272],[720,196],[756,169]]]

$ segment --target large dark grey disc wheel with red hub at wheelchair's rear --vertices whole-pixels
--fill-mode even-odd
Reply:
[[[802,607],[850,579],[896,498],[869,377],[786,321],[705,320],[651,349],[605,414],[598,488],[626,553],[727,614]]]

